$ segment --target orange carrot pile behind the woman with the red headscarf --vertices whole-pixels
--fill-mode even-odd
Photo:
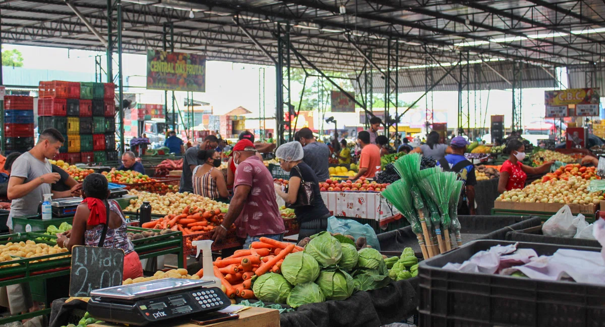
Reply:
[[[183,232],[189,235],[196,232],[209,232],[223,223],[223,214],[220,209],[206,210],[197,206],[186,206],[178,215],[166,215],[158,220],[142,224],[143,228],[166,229]]]

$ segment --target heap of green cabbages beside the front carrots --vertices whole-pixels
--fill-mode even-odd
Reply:
[[[358,251],[352,240],[321,232],[311,237],[304,251],[284,258],[281,275],[266,273],[253,279],[252,290],[261,301],[297,308],[325,300],[345,300],[355,291],[374,290],[390,281],[378,250]]]

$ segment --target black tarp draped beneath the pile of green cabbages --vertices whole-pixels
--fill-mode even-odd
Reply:
[[[379,327],[416,313],[418,278],[391,282],[379,290],[359,291],[342,301],[303,305],[280,315],[281,327]]]

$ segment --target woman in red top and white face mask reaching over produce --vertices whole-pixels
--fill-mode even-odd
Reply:
[[[523,165],[525,146],[523,142],[517,139],[508,142],[504,153],[510,154],[510,157],[502,163],[502,168],[500,168],[500,180],[498,182],[498,192],[500,193],[516,188],[522,189],[525,187],[525,180],[528,178],[527,174],[546,173],[551,168],[552,163],[554,163],[554,161],[551,161],[538,167]]]

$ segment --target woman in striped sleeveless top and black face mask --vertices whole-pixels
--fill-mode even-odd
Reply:
[[[215,150],[200,150],[197,153],[198,165],[193,170],[192,182],[195,194],[229,203],[229,192],[221,166],[221,153]]]

